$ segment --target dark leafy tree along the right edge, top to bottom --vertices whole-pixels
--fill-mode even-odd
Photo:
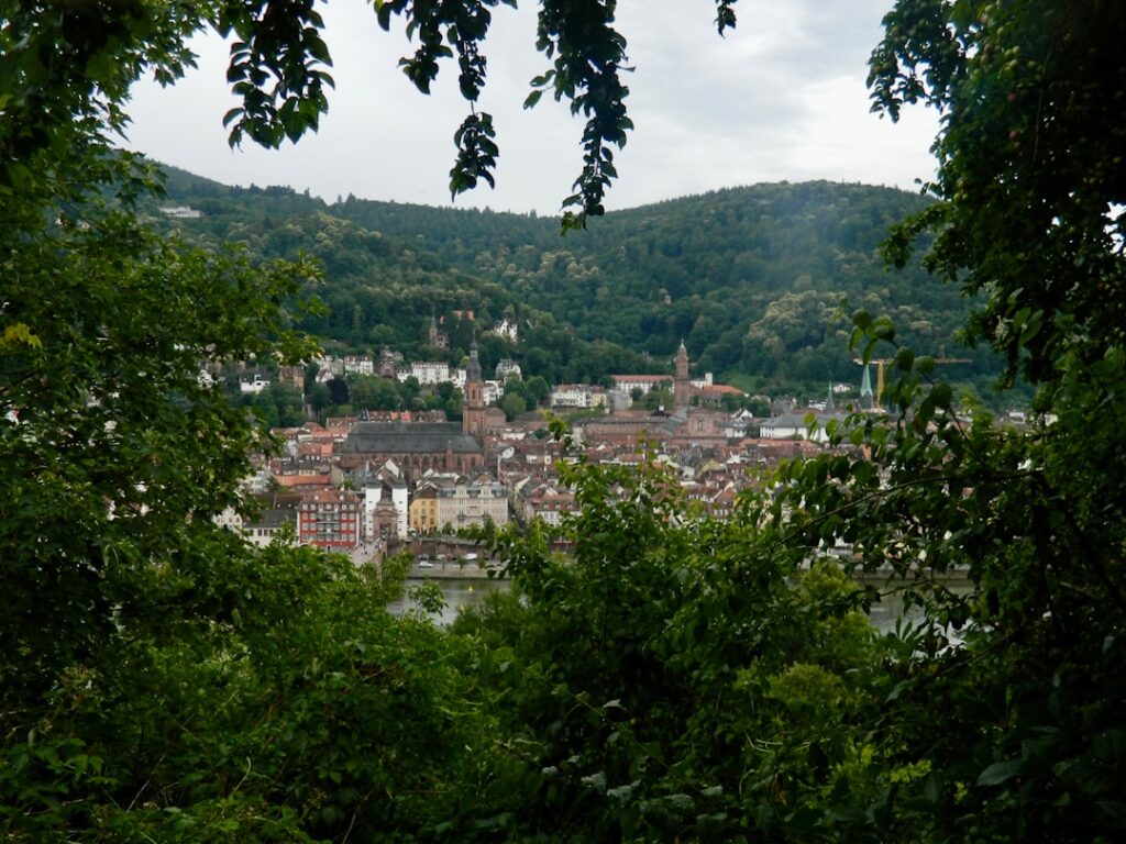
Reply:
[[[1124,77],[1107,70],[1121,70],[1126,15],[1102,2],[902,0],[885,26],[876,107],[945,113],[928,186],[938,201],[896,231],[890,255],[933,232],[927,264],[983,295],[969,338],[1037,387],[1043,415],[1027,430],[985,414],[967,424],[949,387],[930,383],[932,362],[900,347],[890,429],[834,432],[872,463],[792,466],[776,512],[795,508],[799,541],[842,537],[865,565],[915,582],[922,649],[896,668],[885,746],[926,760],[906,791],[933,815],[930,835],[1009,839],[1035,824],[1097,839],[1126,817],[1111,746],[1126,716],[1126,521],[1107,508],[1126,488],[1111,398],[1126,386]],[[888,321],[860,312],[855,323],[866,358],[895,344]],[[957,567],[968,595],[928,580]],[[951,630],[965,641],[945,649]]]

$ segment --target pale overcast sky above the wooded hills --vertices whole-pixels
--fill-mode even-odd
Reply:
[[[726,187],[829,179],[917,190],[933,176],[932,111],[897,124],[869,111],[867,59],[892,0],[742,0],[721,38],[711,0],[620,0],[628,42],[626,106],[635,129],[615,155],[608,209]],[[354,194],[425,205],[557,214],[582,168],[582,120],[545,96],[522,109],[529,80],[548,68],[535,50],[536,5],[498,7],[485,43],[489,81],[479,104],[493,116],[497,188],[452,203],[453,135],[467,113],[447,63],[432,93],[397,68],[413,52],[401,19],[384,33],[363,0],[320,7],[333,57],[329,113],[315,135],[263,150],[231,150],[222,117],[229,46],[214,33],[191,47],[198,68],[175,87],[133,90],[125,145],[226,185],[287,185],[327,201]]]

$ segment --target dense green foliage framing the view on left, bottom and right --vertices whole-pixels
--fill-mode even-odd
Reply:
[[[309,9],[293,17],[315,29]],[[160,11],[32,6],[0,24],[6,835],[1121,837],[1117,7],[901,0],[874,57],[890,114],[947,111],[937,201],[892,257],[935,227],[928,266],[982,296],[971,336],[1038,390],[1028,427],[959,415],[929,349],[858,311],[848,353],[888,350],[886,417],[834,425],[830,449],[724,522],[651,456],[628,473],[569,447],[581,513],[494,536],[515,591],[453,635],[385,612],[401,560],[258,553],[208,518],[238,503],[260,434],[199,365],[306,356],[293,324],[316,272],[158,236],[132,213],[149,174],[104,135],[143,68],[182,70],[213,10]],[[259,33],[287,32],[282,11],[242,9]],[[613,7],[592,11],[610,50],[593,70],[609,72]],[[71,50],[45,61],[56,43]],[[300,79],[312,60],[278,69]],[[272,131],[268,109],[248,119]],[[812,342],[790,317],[828,302],[788,293],[754,325]],[[863,613],[885,578],[914,614],[879,636]]]

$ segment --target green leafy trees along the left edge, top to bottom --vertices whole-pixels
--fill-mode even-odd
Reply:
[[[450,654],[438,658],[426,625],[405,634],[383,611],[390,569],[384,581],[310,549],[259,555],[213,521],[243,506],[250,454],[269,442],[203,367],[312,357],[316,343],[292,325],[320,270],[158,235],[133,214],[155,187],[151,169],[109,143],[129,83],[146,70],[179,77],[186,38],[213,12],[266,47],[235,63],[272,65],[278,92],[293,95],[271,111],[245,91],[243,129],[270,140],[271,126],[315,124],[297,99],[315,105],[319,89],[286,86],[318,63],[257,41],[278,26],[320,52],[315,26],[289,28],[315,23],[312,5],[286,8],[265,10],[265,24],[236,3],[6,3],[0,15],[7,837],[397,837],[427,823],[418,796],[444,790],[462,762],[431,765],[421,745],[400,755],[379,725],[418,716],[432,721],[412,730],[423,745],[474,743],[473,728],[453,743],[435,731],[446,716],[425,698],[461,695],[441,691],[440,677],[456,683]],[[437,672],[422,677],[426,665]],[[403,710],[360,724],[391,685]],[[355,753],[333,748],[330,722],[358,727]]]

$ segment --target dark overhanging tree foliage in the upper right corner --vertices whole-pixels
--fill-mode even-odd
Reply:
[[[937,232],[928,266],[989,291],[968,335],[1002,350],[1011,374],[1051,380],[1061,354],[1100,358],[1124,324],[1126,129],[1107,69],[1126,18],[1101,2],[963,0],[900,2],[886,24],[875,108],[948,111],[930,186],[942,201],[905,224],[894,257],[913,232]]]

